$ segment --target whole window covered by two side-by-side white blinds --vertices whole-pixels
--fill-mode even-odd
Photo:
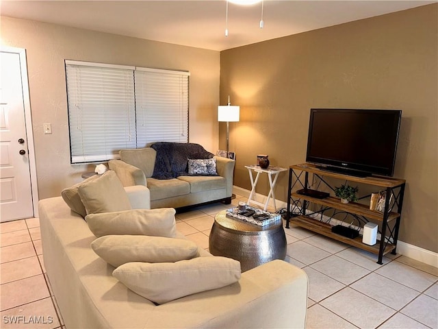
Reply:
[[[157,141],[188,143],[190,73],[65,62],[71,163]]]

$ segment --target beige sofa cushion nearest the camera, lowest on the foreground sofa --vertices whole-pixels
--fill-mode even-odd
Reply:
[[[152,302],[218,289],[240,279],[240,263],[225,257],[197,257],[176,263],[126,263],[112,273],[129,289]]]

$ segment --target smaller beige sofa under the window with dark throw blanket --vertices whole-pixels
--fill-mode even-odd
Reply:
[[[151,191],[151,208],[181,208],[206,202],[231,203],[235,161],[214,156],[217,176],[181,175],[170,180],[152,178],[155,149],[125,149],[120,160],[110,160],[110,169],[116,171],[123,186],[143,185]]]

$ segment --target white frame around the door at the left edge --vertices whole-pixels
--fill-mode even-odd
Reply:
[[[20,58],[21,85],[23,86],[23,105],[25,108],[25,128],[27,138],[27,149],[29,156],[30,183],[32,190],[32,208],[34,217],[38,217],[38,180],[36,177],[36,161],[34,147],[34,131],[32,125],[32,114],[30,107],[29,80],[27,75],[26,49],[16,47],[6,47],[1,45],[0,51],[3,53],[18,53]]]

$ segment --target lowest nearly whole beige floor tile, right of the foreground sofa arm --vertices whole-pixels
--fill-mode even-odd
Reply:
[[[348,287],[320,304],[359,328],[377,328],[396,313],[392,308]]]

